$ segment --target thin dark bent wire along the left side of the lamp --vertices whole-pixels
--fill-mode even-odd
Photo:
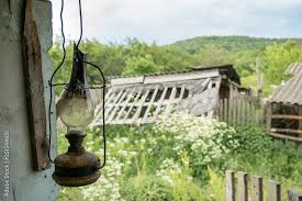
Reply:
[[[60,7],[60,33],[61,33],[61,37],[63,37],[63,43],[61,43],[61,48],[63,48],[63,58],[59,63],[59,65],[57,66],[57,68],[55,69],[54,74],[52,75],[49,81],[48,81],[48,85],[49,85],[49,91],[51,91],[51,96],[49,96],[49,105],[48,105],[48,126],[49,126],[49,148],[48,148],[48,158],[51,160],[51,163],[54,164],[54,160],[52,159],[52,154],[51,154],[51,150],[52,150],[52,103],[53,103],[53,87],[54,86],[64,86],[66,83],[55,83],[53,85],[53,80],[54,80],[54,77],[56,75],[56,72],[58,71],[58,69],[63,66],[64,62],[65,62],[65,58],[66,58],[66,48],[65,48],[65,34],[64,34],[64,22],[63,22],[63,11],[64,11],[64,0],[61,0],[61,7]]]

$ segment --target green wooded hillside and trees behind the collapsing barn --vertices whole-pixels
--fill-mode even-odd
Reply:
[[[248,36],[202,36],[159,46],[135,38],[123,44],[102,44],[88,40],[81,49],[89,60],[102,66],[107,76],[137,75],[182,70],[192,66],[233,64],[245,87],[257,87],[256,63],[265,78],[265,94],[288,78],[283,71],[289,64],[302,60],[302,38],[257,38]],[[59,64],[63,49],[59,40],[51,49],[52,59]],[[67,45],[65,68],[58,72],[59,81],[68,81],[72,44]],[[257,62],[256,62],[257,60]],[[90,70],[93,81],[97,71]]]

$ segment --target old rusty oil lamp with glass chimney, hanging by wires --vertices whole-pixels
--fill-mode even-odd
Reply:
[[[66,85],[66,89],[63,91],[60,98],[57,101],[57,113],[63,123],[67,126],[67,134],[65,135],[65,137],[68,139],[70,146],[68,147],[67,153],[60,154],[55,158],[54,161],[51,159],[49,154],[49,160],[55,164],[55,172],[53,174],[53,179],[58,185],[66,187],[80,187],[93,183],[100,177],[100,169],[105,164],[104,124],[103,165],[100,165],[100,159],[98,158],[98,156],[90,152],[87,152],[82,146],[82,142],[86,136],[83,130],[90,124],[94,114],[94,107],[89,91],[90,87],[87,83],[86,64],[92,65],[100,70],[103,78],[103,86],[100,88],[103,89],[104,98],[104,76],[101,69],[98,66],[86,62],[86,55],[79,51],[77,45],[75,45],[71,78],[69,83]],[[56,85],[51,83],[51,87],[54,86]],[[51,129],[52,127],[49,122],[49,131],[52,134]]]

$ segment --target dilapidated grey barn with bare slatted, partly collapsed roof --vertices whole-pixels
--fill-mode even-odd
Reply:
[[[168,118],[174,112],[214,118],[220,100],[232,100],[249,90],[232,65],[194,67],[184,71],[111,77],[105,94],[108,124],[144,124]],[[94,94],[94,98],[101,96]],[[102,105],[92,125],[101,125]]]

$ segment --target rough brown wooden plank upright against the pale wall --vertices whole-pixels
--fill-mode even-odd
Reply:
[[[32,0],[26,1],[23,53],[33,165],[34,170],[42,171],[48,169],[51,163],[46,133],[41,43],[33,14]]]

